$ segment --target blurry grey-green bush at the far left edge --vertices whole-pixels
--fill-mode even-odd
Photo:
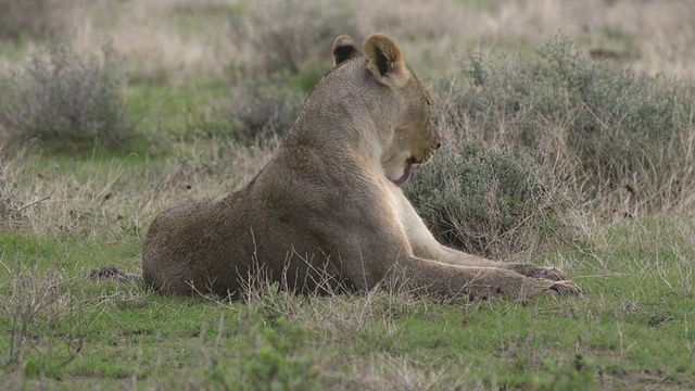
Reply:
[[[39,138],[59,149],[122,146],[130,121],[123,74],[105,49],[105,63],[65,47],[35,54],[14,75],[0,103],[0,125],[11,141]]]

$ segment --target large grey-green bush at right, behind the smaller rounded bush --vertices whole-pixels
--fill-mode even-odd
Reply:
[[[589,195],[628,189],[661,210],[695,185],[692,86],[618,71],[556,37],[533,58],[472,53],[446,86],[442,119],[458,138],[505,146],[542,164],[571,166]]]

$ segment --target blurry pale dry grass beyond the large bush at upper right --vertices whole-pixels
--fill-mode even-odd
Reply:
[[[620,60],[637,72],[695,76],[688,66],[695,8],[686,0],[513,0],[469,5],[455,0],[409,0],[397,7],[389,1],[359,1],[355,9],[364,31],[383,30],[407,41],[408,58],[427,59],[424,66],[448,64],[452,53],[479,48],[534,48],[563,31],[587,52]]]

